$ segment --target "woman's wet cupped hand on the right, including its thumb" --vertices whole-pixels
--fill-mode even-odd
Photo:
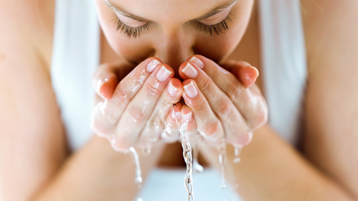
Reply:
[[[200,134],[212,146],[245,146],[252,132],[267,122],[267,104],[254,84],[255,67],[246,62],[224,65],[229,71],[201,55],[180,65],[186,104],[181,112],[189,116],[189,136]]]

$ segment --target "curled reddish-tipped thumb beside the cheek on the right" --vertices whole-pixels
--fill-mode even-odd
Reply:
[[[235,75],[235,77],[240,80],[240,82],[246,88],[250,87],[253,83],[255,83],[259,75],[257,68],[243,61],[236,62],[230,60],[221,64],[220,66]]]

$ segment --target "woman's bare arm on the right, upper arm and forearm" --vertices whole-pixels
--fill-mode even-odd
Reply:
[[[357,2],[316,2],[323,13],[302,1],[309,61],[303,153],[269,126],[255,132],[237,165],[230,146],[227,161],[245,200],[358,199]],[[216,163],[215,150],[207,151]]]

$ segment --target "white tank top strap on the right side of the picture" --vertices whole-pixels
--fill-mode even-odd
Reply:
[[[305,91],[306,48],[299,0],[259,0],[269,123],[295,144]]]

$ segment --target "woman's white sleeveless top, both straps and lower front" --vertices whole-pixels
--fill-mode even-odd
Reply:
[[[269,106],[269,123],[282,138],[296,145],[307,77],[300,3],[299,0],[258,0],[258,5],[263,67],[260,73]],[[89,127],[95,94],[91,78],[99,64],[100,27],[93,1],[58,0],[55,11],[51,80],[69,147],[74,151],[93,135]],[[158,178],[170,177],[172,180],[178,175],[175,172],[153,171],[140,193],[144,201],[160,201],[158,197],[150,198],[157,192],[154,187],[159,185]],[[185,199],[184,173],[184,170],[180,171],[182,178],[178,193],[174,188],[178,183],[162,183],[169,196],[164,196],[163,200],[183,200],[179,197],[182,193]],[[197,177],[199,175],[194,176],[195,199],[223,199],[216,172],[204,171],[202,178]],[[214,185],[207,187],[209,184]],[[202,197],[197,189],[200,186],[206,186]],[[236,200],[231,196],[226,199]]]

